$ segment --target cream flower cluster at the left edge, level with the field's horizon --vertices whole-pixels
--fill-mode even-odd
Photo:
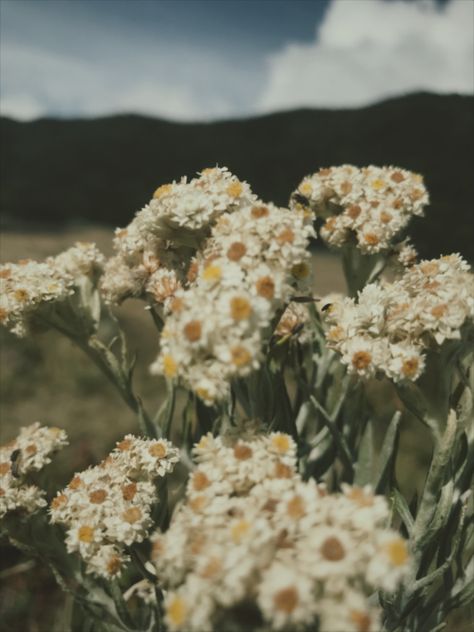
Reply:
[[[78,242],[44,262],[23,259],[0,266],[0,323],[17,336],[48,326],[55,309],[85,280],[96,281],[104,257],[95,244]]]

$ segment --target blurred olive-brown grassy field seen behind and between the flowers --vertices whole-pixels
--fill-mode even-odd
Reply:
[[[111,232],[90,227],[54,234],[9,232],[0,240],[0,262],[41,259],[59,253],[74,241],[94,241],[105,254],[111,251]],[[318,252],[313,257],[313,268],[316,295],[343,291],[337,257]],[[148,409],[154,410],[161,393],[160,382],[148,373],[158,350],[154,325],[138,301],[126,302],[117,315],[137,352],[136,390]],[[134,416],[122,405],[114,388],[68,340],[53,333],[24,340],[4,331],[0,334],[0,444],[15,436],[20,426],[36,420],[65,428],[70,446],[50,467],[56,488],[65,484],[74,471],[102,459],[118,438],[137,431]],[[376,399],[384,397],[384,393],[375,394]],[[422,485],[430,455],[429,440],[413,421],[405,421],[401,448],[398,477],[402,489],[411,495]],[[67,603],[50,573],[38,565],[32,572],[20,566],[12,573],[24,559],[9,547],[0,546],[0,558],[0,630],[65,631],[62,611]],[[468,632],[472,628],[455,615],[449,629]]]

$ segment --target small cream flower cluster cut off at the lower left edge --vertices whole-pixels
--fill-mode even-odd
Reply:
[[[32,513],[44,507],[44,492],[25,477],[51,462],[51,454],[67,445],[66,433],[38,422],[24,427],[16,439],[0,446],[0,518],[16,509]]]

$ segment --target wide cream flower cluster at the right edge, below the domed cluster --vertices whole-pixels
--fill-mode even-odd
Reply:
[[[357,301],[331,303],[326,315],[327,340],[350,372],[416,380],[426,349],[472,327],[474,275],[457,254],[421,261],[393,283],[367,285]]]

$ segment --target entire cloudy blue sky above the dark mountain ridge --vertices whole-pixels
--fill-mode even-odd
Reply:
[[[471,0],[0,0],[19,119],[212,120],[472,93]]]

